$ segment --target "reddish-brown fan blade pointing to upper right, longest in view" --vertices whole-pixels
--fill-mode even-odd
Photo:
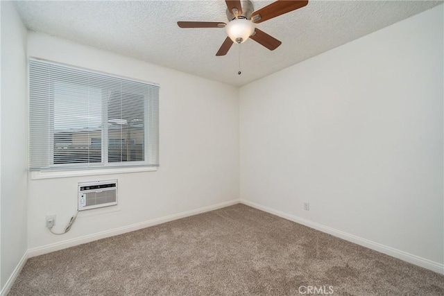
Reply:
[[[296,10],[298,8],[304,7],[308,4],[308,1],[293,1],[293,0],[278,0],[270,5],[265,6],[259,10],[256,10],[251,14],[251,20],[253,23],[262,23],[267,19],[273,19],[273,17],[278,17],[284,13]]]

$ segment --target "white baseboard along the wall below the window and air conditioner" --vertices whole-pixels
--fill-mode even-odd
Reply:
[[[76,245],[81,245],[83,243],[89,243],[91,241],[97,241],[101,238],[107,238],[110,236],[117,236],[119,234],[124,234],[126,232],[133,232],[138,229],[142,229],[145,227],[150,227],[157,224],[166,223],[172,220],[178,220],[180,218],[185,218],[188,216],[194,216],[197,214],[205,213],[207,211],[213,211],[215,209],[221,209],[223,207],[228,207],[232,204],[238,204],[239,200],[230,200],[228,202],[221,202],[219,204],[213,204],[208,207],[201,207],[199,209],[193,209],[191,211],[184,211],[182,213],[173,214],[170,216],[165,216],[162,218],[155,218],[152,220],[144,221],[141,223],[135,223],[133,225],[128,225],[124,227],[119,227],[115,229],[106,230],[104,232],[98,232],[96,234],[89,234],[86,236],[80,236],[78,238],[69,239],[66,241],[60,241],[58,243],[51,243],[49,245],[44,245],[42,247],[34,247],[28,250],[28,257],[40,256],[42,254],[47,254],[51,252],[55,252],[58,250],[66,249],[67,247],[74,247]]]

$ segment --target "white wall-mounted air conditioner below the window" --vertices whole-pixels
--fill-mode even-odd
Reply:
[[[78,183],[78,210],[117,204],[117,180]]]

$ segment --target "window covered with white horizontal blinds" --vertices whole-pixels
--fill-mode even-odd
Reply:
[[[159,87],[29,60],[30,169],[158,166]]]

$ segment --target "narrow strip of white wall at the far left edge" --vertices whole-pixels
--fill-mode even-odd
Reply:
[[[28,143],[26,28],[11,2],[1,1],[1,290],[27,244]]]

